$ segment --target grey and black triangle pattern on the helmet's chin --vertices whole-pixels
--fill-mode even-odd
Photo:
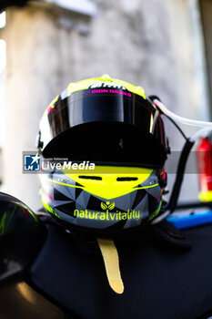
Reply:
[[[73,180],[74,181],[74,180]],[[89,194],[89,192],[85,191],[85,196],[82,193],[83,190],[85,190],[85,187],[77,182],[73,183],[72,181],[72,185],[73,187],[69,188],[68,193],[66,192],[67,196],[69,196],[70,194],[70,198],[68,198],[63,192],[61,192],[63,190],[63,188],[61,188],[61,191],[54,189],[54,192],[52,194],[53,198],[56,201],[66,201],[66,204],[62,204],[62,205],[58,205],[58,202],[55,202],[55,207],[54,209],[56,209],[56,211],[64,212],[67,215],[76,218],[76,216],[74,215],[74,211],[76,210],[82,210],[82,211],[103,211],[106,212],[106,210],[102,209],[101,204],[102,202],[106,203],[106,201],[109,201],[110,203],[114,203],[116,204],[116,206],[113,208],[113,210],[108,210],[108,212],[110,213],[118,213],[118,212],[122,212],[122,213],[126,213],[128,210],[129,211],[133,211],[135,209],[138,210],[142,210],[142,213],[146,214],[148,213],[148,215],[151,216],[151,214],[153,214],[156,211],[156,207],[158,206],[157,203],[157,199],[156,197],[158,196],[158,190],[136,190],[133,193],[129,193],[125,196],[123,196],[122,198],[114,198],[111,200],[106,200],[106,199],[101,199],[99,197],[96,197],[96,195],[91,195]],[[78,186],[78,187],[75,187]],[[64,185],[64,190],[67,189],[66,185]],[[133,202],[133,205],[132,205]],[[119,205],[122,207],[122,209],[119,208]],[[107,206],[107,205],[106,205]],[[140,207],[140,209],[139,209]],[[62,216],[61,216],[62,217]],[[123,229],[124,227],[132,227],[133,223],[137,222],[137,221],[132,221],[132,223],[127,223],[127,219],[123,220],[123,219],[115,219],[114,221],[110,221],[110,223],[112,223],[110,226],[103,227],[105,229],[108,230],[116,230],[116,229]],[[80,219],[77,218],[76,219],[76,223],[78,224],[78,226],[80,225],[84,225],[86,224],[86,220],[85,219]],[[98,226],[99,224],[99,226]],[[104,221],[96,221],[96,223],[94,224],[95,228],[102,228],[104,224]],[[107,224],[107,223],[106,223]],[[108,225],[108,224],[107,224]]]

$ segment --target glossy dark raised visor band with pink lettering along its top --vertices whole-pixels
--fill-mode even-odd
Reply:
[[[116,93],[106,94],[106,91]],[[52,138],[66,129],[94,121],[123,122],[154,134],[154,116],[158,117],[156,108],[136,94],[92,89],[75,92],[64,100],[58,99],[55,108],[48,113],[48,121]]]

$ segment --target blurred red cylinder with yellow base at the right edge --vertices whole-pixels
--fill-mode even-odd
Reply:
[[[212,143],[203,138],[197,147],[197,165],[199,173],[200,201],[212,200]]]

